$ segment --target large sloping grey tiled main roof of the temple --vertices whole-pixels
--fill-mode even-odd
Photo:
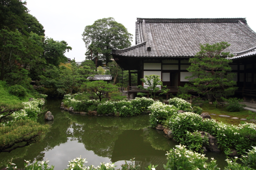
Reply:
[[[221,41],[231,44],[231,53],[256,46],[256,33],[245,18],[159,19],[137,18],[135,46],[112,53],[136,57],[190,57],[200,44]]]

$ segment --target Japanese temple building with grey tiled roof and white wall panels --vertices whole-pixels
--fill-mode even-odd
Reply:
[[[138,85],[143,85],[140,79],[145,75],[157,74],[170,93],[176,93],[188,82],[188,60],[200,51],[200,44],[221,41],[231,44],[225,51],[235,55],[230,66],[236,73],[237,94],[256,101],[256,33],[245,18],[137,18],[136,45],[114,49],[112,55],[123,70],[138,73]],[[129,94],[133,91],[128,89]]]

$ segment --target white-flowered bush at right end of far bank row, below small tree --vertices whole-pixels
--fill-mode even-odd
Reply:
[[[139,98],[131,100],[131,105],[133,107],[134,112],[141,113],[143,111],[147,111],[148,107],[154,103],[152,98]]]

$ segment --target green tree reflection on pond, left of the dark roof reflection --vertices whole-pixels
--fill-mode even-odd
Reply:
[[[67,115],[73,122],[72,140],[85,145],[102,157],[111,157],[115,141],[124,130],[143,129],[148,126],[148,116],[143,118],[119,118],[106,116]]]

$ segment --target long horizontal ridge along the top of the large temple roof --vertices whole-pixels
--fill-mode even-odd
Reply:
[[[245,18],[137,18],[142,22],[238,22],[239,20],[247,24]]]

